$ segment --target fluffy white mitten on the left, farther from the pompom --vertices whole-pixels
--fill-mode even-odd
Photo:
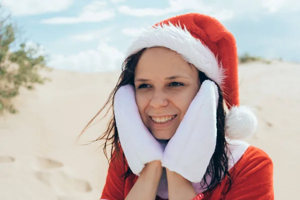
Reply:
[[[132,85],[121,86],[113,99],[119,140],[132,172],[139,175],[144,165],[161,160],[163,148],[143,124]]]

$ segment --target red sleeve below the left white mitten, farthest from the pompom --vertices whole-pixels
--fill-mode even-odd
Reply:
[[[114,157],[114,154],[113,156]],[[124,176],[125,172],[122,155],[109,162],[106,182],[100,199],[123,200],[124,199]]]

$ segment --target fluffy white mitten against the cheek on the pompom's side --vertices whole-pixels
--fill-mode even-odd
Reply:
[[[202,180],[216,145],[217,101],[215,83],[205,80],[167,143],[162,166],[191,182]]]

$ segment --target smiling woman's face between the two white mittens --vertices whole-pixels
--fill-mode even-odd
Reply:
[[[170,139],[200,88],[198,71],[176,52],[154,47],[141,55],[134,73],[135,100],[145,126]]]

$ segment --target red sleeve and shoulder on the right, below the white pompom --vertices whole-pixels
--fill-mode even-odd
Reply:
[[[233,183],[224,200],[274,199],[273,163],[259,148],[249,147],[241,163],[236,163]]]

